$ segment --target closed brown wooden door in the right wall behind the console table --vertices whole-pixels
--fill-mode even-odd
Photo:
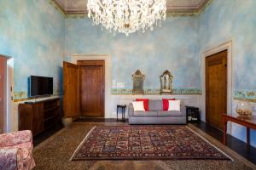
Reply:
[[[227,50],[206,58],[207,123],[223,128],[221,114],[227,112]]]

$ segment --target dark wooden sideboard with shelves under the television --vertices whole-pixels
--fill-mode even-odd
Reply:
[[[31,130],[33,136],[60,121],[60,99],[47,99],[19,105],[19,130]]]

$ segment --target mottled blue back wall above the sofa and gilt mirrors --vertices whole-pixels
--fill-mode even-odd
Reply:
[[[201,88],[198,46],[198,20],[171,17],[154,31],[143,34],[108,33],[92,26],[88,19],[67,19],[66,55],[110,54],[112,80],[132,88],[131,75],[140,69],[146,76],[144,88],[160,88],[160,75],[167,70],[174,77],[173,88]]]

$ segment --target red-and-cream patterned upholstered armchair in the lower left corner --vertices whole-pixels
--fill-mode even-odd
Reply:
[[[0,134],[0,170],[32,169],[35,167],[32,150],[31,131]]]

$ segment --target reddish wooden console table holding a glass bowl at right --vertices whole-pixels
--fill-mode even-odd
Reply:
[[[247,146],[250,145],[250,128],[256,129],[256,116],[251,116],[250,119],[243,118],[241,116],[233,115],[222,115],[222,119],[224,122],[224,136],[223,136],[223,144],[226,144],[226,135],[227,135],[227,122],[235,122],[237,124],[240,124],[241,126],[247,127]]]

